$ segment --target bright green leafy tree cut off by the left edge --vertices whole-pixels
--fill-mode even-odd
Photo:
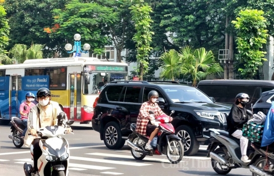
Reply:
[[[8,45],[9,25],[5,18],[6,12],[2,5],[0,5],[0,54],[5,53],[4,48]]]

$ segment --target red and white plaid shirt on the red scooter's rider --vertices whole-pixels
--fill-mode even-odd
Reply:
[[[164,114],[157,103],[153,103],[152,105],[150,105],[149,101],[142,103],[136,123],[136,132],[141,135],[146,135],[146,125],[150,120],[148,111],[150,110],[154,112],[155,117]]]

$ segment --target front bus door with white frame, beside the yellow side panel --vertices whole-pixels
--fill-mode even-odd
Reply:
[[[81,121],[81,74],[70,74],[70,119]]]

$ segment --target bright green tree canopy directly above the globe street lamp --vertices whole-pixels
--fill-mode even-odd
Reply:
[[[98,54],[105,51],[105,45],[112,43],[108,27],[118,20],[113,8],[72,0],[64,10],[52,11],[55,23],[60,24],[57,36],[66,38],[67,42],[72,43],[74,34],[79,33],[82,43],[89,43],[91,51]]]

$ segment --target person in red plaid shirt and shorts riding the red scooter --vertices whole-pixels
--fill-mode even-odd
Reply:
[[[145,145],[146,150],[153,150],[150,143],[159,131],[159,128],[156,125],[152,125],[150,120],[154,120],[154,116],[157,117],[164,114],[158,104],[155,103],[158,97],[159,94],[157,91],[150,91],[147,96],[148,101],[142,103],[137,117],[136,132],[141,135],[150,136]],[[148,113],[150,110],[154,112],[154,115]]]

